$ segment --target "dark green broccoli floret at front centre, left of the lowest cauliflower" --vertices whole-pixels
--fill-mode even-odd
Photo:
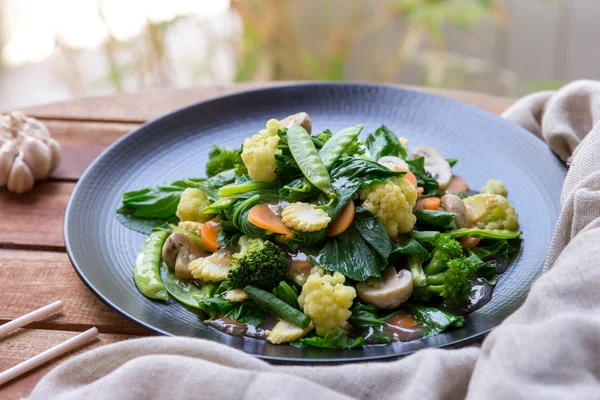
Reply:
[[[248,285],[271,290],[285,279],[289,269],[286,253],[273,242],[242,236],[240,252],[234,254],[227,280],[231,287]]]

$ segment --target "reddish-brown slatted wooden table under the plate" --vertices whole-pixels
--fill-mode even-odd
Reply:
[[[0,189],[0,325],[55,300],[65,308],[0,338],[0,371],[90,327],[99,338],[80,350],[0,387],[0,398],[27,396],[50,369],[75,354],[152,333],[109,309],[79,280],[65,253],[63,217],[69,195],[88,165],[108,145],[140,123],[204,99],[259,84],[155,90],[49,104],[24,110],[46,123],[63,146],[51,179],[24,195]],[[426,89],[421,89],[426,90]],[[513,99],[450,90],[428,90],[494,113]]]

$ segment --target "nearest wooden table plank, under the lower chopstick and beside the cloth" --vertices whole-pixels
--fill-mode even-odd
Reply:
[[[12,334],[0,338],[0,371],[25,361],[67,339],[75,336],[77,332],[47,331],[41,329],[20,329]],[[0,399],[12,400],[28,396],[37,382],[50,370],[78,354],[123,340],[133,339],[136,336],[100,334],[79,349],[52,360],[21,377],[0,386]]]

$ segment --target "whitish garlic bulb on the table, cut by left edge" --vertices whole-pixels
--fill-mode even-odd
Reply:
[[[59,163],[60,144],[44,124],[20,111],[0,114],[0,187],[27,192]]]

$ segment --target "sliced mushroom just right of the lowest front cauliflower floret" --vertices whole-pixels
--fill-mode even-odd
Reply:
[[[364,302],[381,309],[390,309],[408,300],[414,287],[412,274],[408,270],[396,272],[396,268],[390,265],[382,275],[382,280],[374,285],[365,282],[356,285],[358,296]]]

